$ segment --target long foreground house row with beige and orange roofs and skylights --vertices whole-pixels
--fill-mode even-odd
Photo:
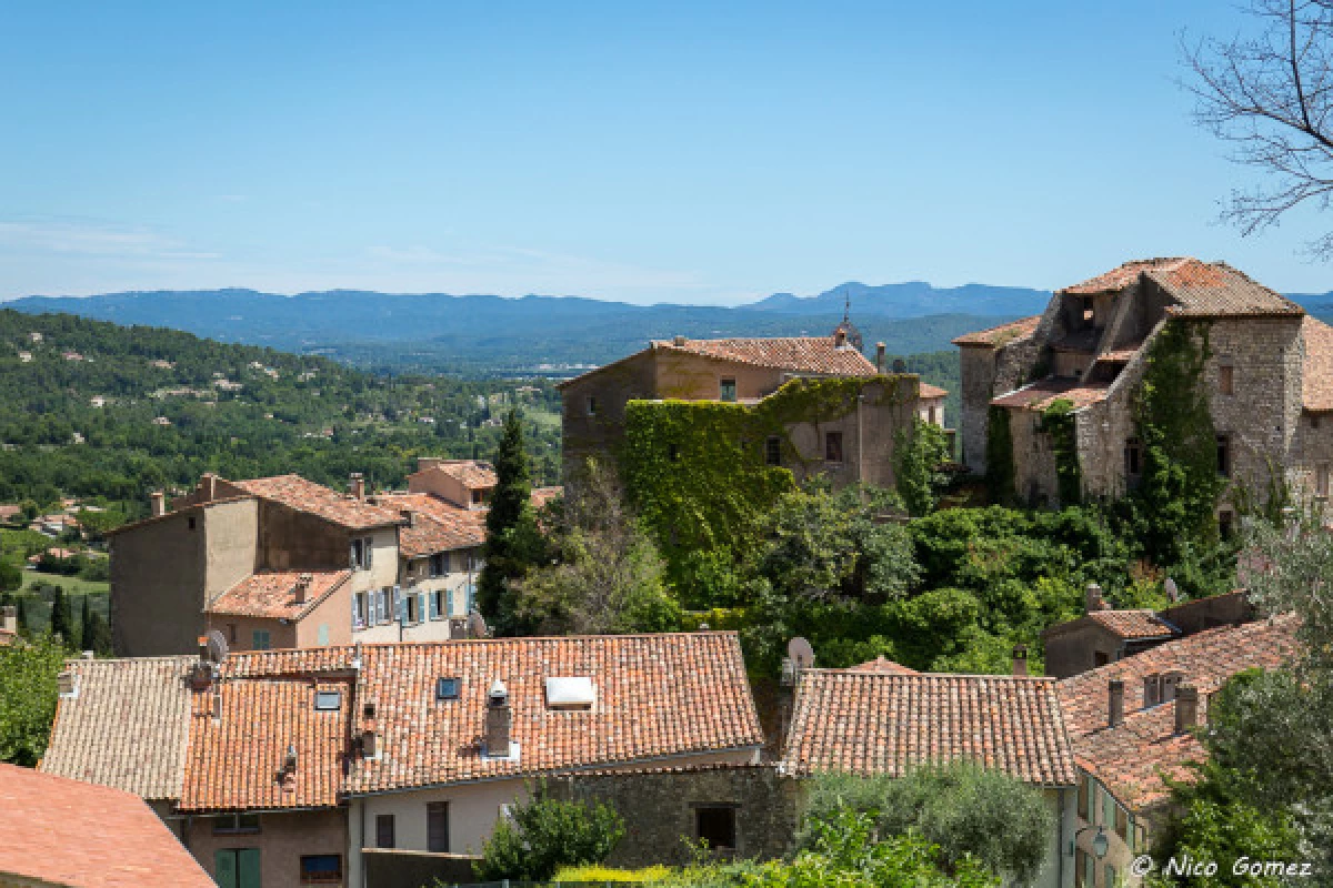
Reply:
[[[762,746],[733,632],[72,660],[61,687],[41,770],[149,797],[233,888],[420,888],[471,873],[533,777],[568,795],[595,772],[596,793]],[[644,853],[746,835],[718,779],[680,784],[680,833]]]

